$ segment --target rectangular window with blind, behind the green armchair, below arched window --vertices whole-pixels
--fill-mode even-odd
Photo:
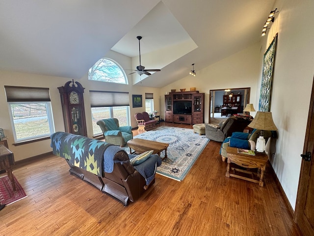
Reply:
[[[97,124],[100,119],[117,118],[119,126],[131,125],[130,102],[128,92],[89,91],[93,133],[102,134]]]

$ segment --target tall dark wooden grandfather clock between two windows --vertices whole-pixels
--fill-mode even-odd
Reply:
[[[61,96],[65,132],[87,136],[83,98],[85,88],[72,80],[58,89]]]

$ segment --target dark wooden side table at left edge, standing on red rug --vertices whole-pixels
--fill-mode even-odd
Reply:
[[[15,182],[12,175],[12,166],[14,165],[13,153],[3,145],[0,145],[0,170],[5,169],[11,180],[13,191],[15,191]]]

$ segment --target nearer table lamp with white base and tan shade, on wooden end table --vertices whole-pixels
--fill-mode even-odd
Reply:
[[[248,126],[253,129],[261,130],[261,135],[256,141],[256,150],[258,152],[264,152],[266,142],[263,137],[263,130],[277,130],[271,112],[257,112],[255,118]]]

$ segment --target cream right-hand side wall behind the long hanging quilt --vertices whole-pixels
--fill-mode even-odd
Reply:
[[[314,75],[314,1],[277,0],[276,7],[262,42],[264,53],[278,32],[271,112],[279,137],[271,164],[294,208]]]

